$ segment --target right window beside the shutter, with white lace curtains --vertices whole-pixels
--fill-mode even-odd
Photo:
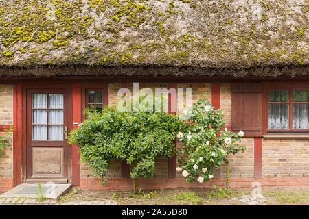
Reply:
[[[309,131],[309,90],[268,90],[268,132]]]

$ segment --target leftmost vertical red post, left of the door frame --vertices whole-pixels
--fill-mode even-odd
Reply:
[[[23,90],[21,84],[14,84],[13,107],[13,185],[16,186],[22,183]]]

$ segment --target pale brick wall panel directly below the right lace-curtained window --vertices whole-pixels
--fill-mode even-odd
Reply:
[[[263,139],[263,177],[309,178],[309,140]]]

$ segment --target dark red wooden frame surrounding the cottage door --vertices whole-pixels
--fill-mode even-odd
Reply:
[[[26,83],[23,85],[23,157],[22,157],[22,183],[25,183],[27,179],[27,90],[30,89],[65,89],[67,91],[67,127],[68,131],[72,130],[72,88],[71,84],[68,83],[43,83],[43,84],[35,84],[35,83]],[[70,147],[70,145],[67,145]],[[68,183],[72,182],[72,150],[67,149],[67,155],[65,155],[65,159],[67,159],[67,179]]]

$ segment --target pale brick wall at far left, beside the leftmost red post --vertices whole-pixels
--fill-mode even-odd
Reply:
[[[12,125],[13,123],[13,86],[0,85],[0,125]],[[0,130],[0,136],[5,136],[5,131]],[[9,143],[0,157],[0,192],[12,188],[13,179],[13,139],[12,133]]]

